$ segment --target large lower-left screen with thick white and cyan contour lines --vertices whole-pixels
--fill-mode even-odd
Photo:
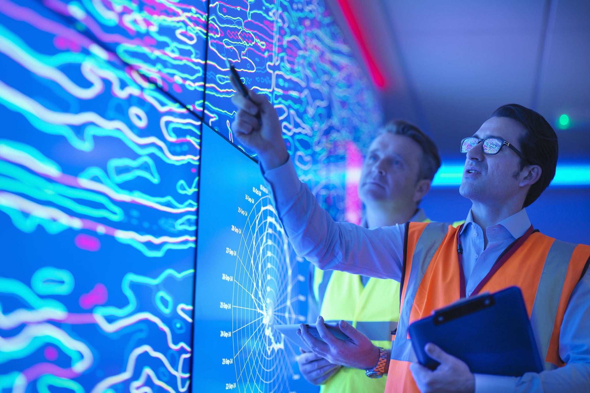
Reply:
[[[0,0],[0,391],[188,391],[201,120]]]

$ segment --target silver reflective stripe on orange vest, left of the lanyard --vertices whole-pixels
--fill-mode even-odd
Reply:
[[[415,362],[416,355],[412,349],[408,336],[409,314],[412,311],[414,298],[430,260],[447,236],[448,223],[428,223],[422,231],[412,256],[412,269],[409,272],[408,287],[406,288],[404,306],[399,315],[398,331],[395,335],[391,358],[394,360]],[[407,252],[407,250],[406,250]],[[408,272],[406,272],[408,274]],[[404,283],[401,283],[404,285]]]

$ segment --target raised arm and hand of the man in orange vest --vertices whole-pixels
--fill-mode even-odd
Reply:
[[[343,270],[400,280],[404,226],[366,229],[337,223],[299,181],[283,141],[280,121],[264,95],[237,94],[232,124],[235,136],[253,150],[271,187],[278,216],[297,255],[320,269]],[[260,112],[261,121],[255,117]]]

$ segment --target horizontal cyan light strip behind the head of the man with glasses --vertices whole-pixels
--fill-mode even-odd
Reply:
[[[443,165],[432,180],[432,187],[460,186],[463,165]],[[558,165],[555,177],[549,187],[590,186],[590,164]]]

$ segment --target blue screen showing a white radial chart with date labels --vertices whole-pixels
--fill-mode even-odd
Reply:
[[[274,326],[305,320],[307,266],[287,241],[258,164],[203,128],[193,378],[209,392],[296,391],[299,348]]]

